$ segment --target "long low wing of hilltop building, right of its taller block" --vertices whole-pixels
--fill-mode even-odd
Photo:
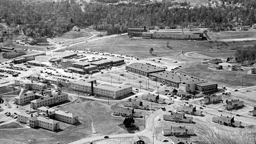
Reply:
[[[201,34],[174,33],[174,32],[142,32],[144,39],[168,39],[168,40],[202,40]]]

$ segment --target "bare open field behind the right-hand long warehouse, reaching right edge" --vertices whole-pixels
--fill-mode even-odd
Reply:
[[[214,70],[208,68],[208,64],[201,64],[201,62],[194,62],[188,64],[185,68],[178,70],[178,72],[196,76],[206,80],[213,80],[224,86],[242,87],[242,79],[244,79],[244,86],[254,86],[256,75],[248,75],[248,70],[231,71],[230,67],[223,66],[224,70]]]

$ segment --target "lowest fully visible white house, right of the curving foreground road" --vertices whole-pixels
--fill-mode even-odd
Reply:
[[[164,136],[189,136],[194,135],[192,128],[186,126],[171,126],[171,129],[162,130]]]

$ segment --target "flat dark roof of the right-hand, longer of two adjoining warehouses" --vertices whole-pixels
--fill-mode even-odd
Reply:
[[[157,72],[157,73],[154,73],[154,74],[150,74],[150,76],[158,77],[160,79],[168,80],[168,81],[176,82],[176,83],[183,83],[183,82],[187,83],[187,82],[192,81],[192,82],[195,82],[196,84],[198,84],[198,83],[204,82],[202,80],[190,78],[188,76],[182,76],[180,74],[175,74],[175,73],[168,72],[168,71]]]

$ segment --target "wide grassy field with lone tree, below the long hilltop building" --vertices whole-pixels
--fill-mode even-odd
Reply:
[[[166,48],[166,42],[169,42],[170,48]],[[88,41],[84,44],[76,46],[76,50],[93,50],[112,52],[115,54],[138,56],[144,58],[148,56],[170,56],[174,52],[182,51],[201,51],[211,50],[217,48],[223,50],[228,48],[222,42],[208,42],[208,41],[170,41],[170,40],[145,40],[141,38],[103,38],[97,41]],[[154,49],[152,55],[149,53],[150,48]]]

